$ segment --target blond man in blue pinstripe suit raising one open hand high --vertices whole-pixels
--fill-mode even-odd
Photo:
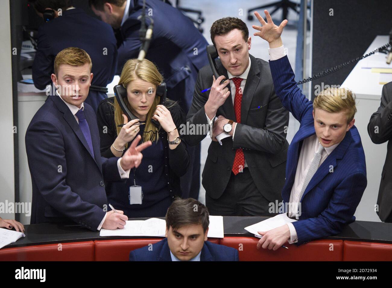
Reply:
[[[276,94],[301,123],[287,153],[286,182],[282,190],[289,217],[299,221],[259,232],[257,248],[276,250],[287,240],[305,243],[338,234],[355,220],[354,212],[367,185],[365,153],[357,128],[352,92],[326,89],[309,101],[294,81],[280,35],[287,24],[268,23],[255,12],[262,27],[254,33],[269,42],[270,69]],[[301,205],[299,206],[299,203]],[[294,209],[293,209],[294,208]],[[285,212],[287,212],[285,210]]]

